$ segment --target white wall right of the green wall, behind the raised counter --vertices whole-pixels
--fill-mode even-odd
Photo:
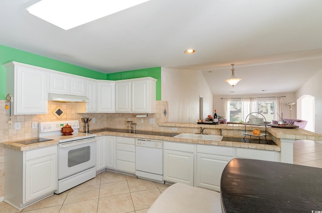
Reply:
[[[201,71],[161,68],[162,100],[169,101],[169,122],[193,123],[199,119],[199,96],[204,117],[212,115],[212,93]]]

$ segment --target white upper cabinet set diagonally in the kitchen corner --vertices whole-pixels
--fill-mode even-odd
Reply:
[[[97,112],[115,113],[115,82],[100,80],[97,82]]]

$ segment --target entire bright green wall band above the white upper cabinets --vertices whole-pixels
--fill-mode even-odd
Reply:
[[[15,48],[0,44],[0,100],[6,97],[6,69],[2,64],[17,61],[24,64],[30,64],[47,69],[57,70],[69,74],[102,79],[102,80],[121,80],[139,77],[152,77],[156,81],[156,100],[161,100],[161,67],[131,70],[106,74],[95,70],[68,64],[62,61],[47,58],[41,55],[25,52]]]

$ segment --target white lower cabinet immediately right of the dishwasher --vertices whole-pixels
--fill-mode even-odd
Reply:
[[[164,142],[164,180],[194,185],[194,146]]]

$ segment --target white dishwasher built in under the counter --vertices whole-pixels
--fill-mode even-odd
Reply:
[[[135,139],[135,175],[165,183],[163,180],[163,141]]]

